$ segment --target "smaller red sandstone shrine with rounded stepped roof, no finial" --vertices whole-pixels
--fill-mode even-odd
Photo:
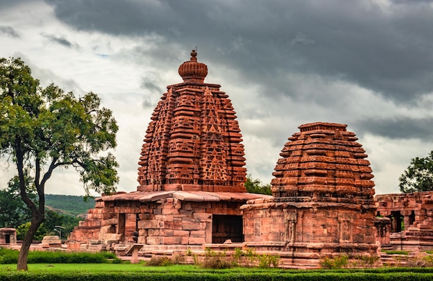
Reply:
[[[378,256],[373,175],[346,127],[304,124],[289,138],[273,173],[273,198],[241,206],[246,246],[279,251],[294,265],[342,253]]]

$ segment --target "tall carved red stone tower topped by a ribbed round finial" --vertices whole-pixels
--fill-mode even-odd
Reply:
[[[183,83],[167,86],[142,145],[138,191],[246,192],[241,133],[228,95],[205,84],[196,59],[178,69]]]

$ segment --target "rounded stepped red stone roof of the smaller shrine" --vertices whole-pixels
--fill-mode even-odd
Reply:
[[[274,197],[374,204],[374,176],[362,145],[347,125],[301,125],[289,137],[272,180]]]

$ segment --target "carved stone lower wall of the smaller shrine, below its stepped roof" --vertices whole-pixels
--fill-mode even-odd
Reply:
[[[302,249],[316,253],[334,252],[341,246],[350,253],[365,252],[365,247],[359,245],[370,244],[367,246],[371,248],[370,253],[376,251],[376,247],[371,247],[376,242],[373,212],[361,214],[342,207],[269,205],[268,208],[264,208],[266,205],[242,207],[246,242],[255,242],[256,246],[259,242],[279,242],[285,251]]]

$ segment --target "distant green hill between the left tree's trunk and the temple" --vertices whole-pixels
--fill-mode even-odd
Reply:
[[[89,198],[84,202],[83,196],[46,194],[45,205],[47,209],[76,216],[84,215],[87,210],[94,208],[95,201]]]

